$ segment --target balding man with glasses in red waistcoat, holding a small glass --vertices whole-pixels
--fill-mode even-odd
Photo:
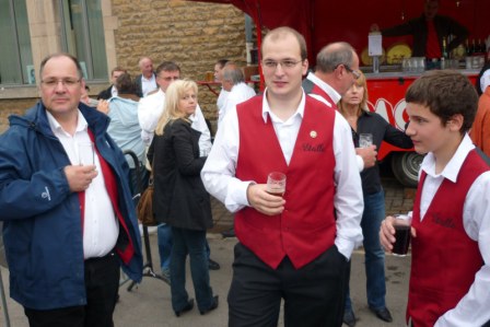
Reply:
[[[304,38],[279,27],[262,43],[267,89],[223,120],[202,170],[236,212],[229,326],[341,326],[346,269],[362,241],[361,182],[347,121],[301,87]],[[346,145],[347,144],[347,145]],[[287,175],[282,197],[267,175]]]

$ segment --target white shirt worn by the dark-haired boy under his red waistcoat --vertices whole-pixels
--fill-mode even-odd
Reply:
[[[434,155],[431,152],[425,155],[421,165],[421,171],[427,173],[420,199],[421,220],[444,178],[456,183],[459,170],[472,149],[475,145],[466,135],[441,174],[435,174]],[[438,319],[435,327],[472,327],[490,320],[490,172],[481,174],[469,188],[463,209],[463,226],[468,237],[478,242],[485,265],[475,276],[468,293],[455,308]]]

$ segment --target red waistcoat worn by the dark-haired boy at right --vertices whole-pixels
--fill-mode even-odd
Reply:
[[[475,179],[489,166],[472,150],[453,183],[444,179],[420,221],[420,197],[427,174],[422,172],[413,203],[412,262],[407,320],[413,326],[432,327],[445,312],[454,308],[468,292],[483,259],[478,243],[463,226],[466,195]]]

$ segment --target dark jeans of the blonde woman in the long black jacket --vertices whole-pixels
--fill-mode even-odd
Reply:
[[[209,284],[206,231],[172,227],[172,235],[174,241],[171,259],[172,307],[174,311],[180,311],[189,301],[186,291],[186,258],[189,255],[197,306],[200,311],[209,310],[213,304],[213,295]]]

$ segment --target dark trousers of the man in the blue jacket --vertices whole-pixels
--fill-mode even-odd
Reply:
[[[113,327],[119,288],[119,260],[112,253],[85,260],[86,305],[55,310],[24,307],[31,327]]]

